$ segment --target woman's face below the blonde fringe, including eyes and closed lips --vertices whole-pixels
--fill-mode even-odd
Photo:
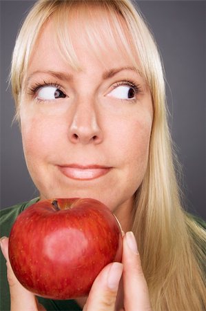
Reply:
[[[129,57],[106,39],[96,57],[70,21],[82,70],[61,58],[52,21],[41,32],[24,79],[21,133],[41,199],[90,197],[111,210],[132,207],[145,175],[152,99]],[[119,41],[121,46],[121,41]]]

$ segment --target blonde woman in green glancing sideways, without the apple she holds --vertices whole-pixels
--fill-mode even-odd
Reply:
[[[160,57],[132,3],[37,1],[11,82],[36,200],[96,198],[126,232],[123,263],[105,267],[88,298],[39,307],[12,274],[4,238],[11,310],[204,310],[205,232],[181,208]],[[3,235],[32,202],[2,212]]]

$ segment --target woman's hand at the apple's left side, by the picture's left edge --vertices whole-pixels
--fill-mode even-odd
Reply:
[[[8,238],[1,238],[1,252],[6,259],[7,277],[10,287],[11,311],[45,310],[42,305],[37,305],[37,300],[31,292],[26,290],[17,280],[8,256]]]

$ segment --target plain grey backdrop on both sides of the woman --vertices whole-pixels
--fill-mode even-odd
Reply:
[[[206,219],[206,2],[137,2],[165,64],[169,123],[183,164],[185,207]],[[33,3],[1,1],[1,208],[38,195],[25,167],[18,125],[11,125],[14,103],[7,82],[17,30]]]

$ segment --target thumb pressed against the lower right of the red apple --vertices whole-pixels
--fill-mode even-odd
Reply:
[[[114,311],[122,263],[110,263],[96,277],[83,311]]]

